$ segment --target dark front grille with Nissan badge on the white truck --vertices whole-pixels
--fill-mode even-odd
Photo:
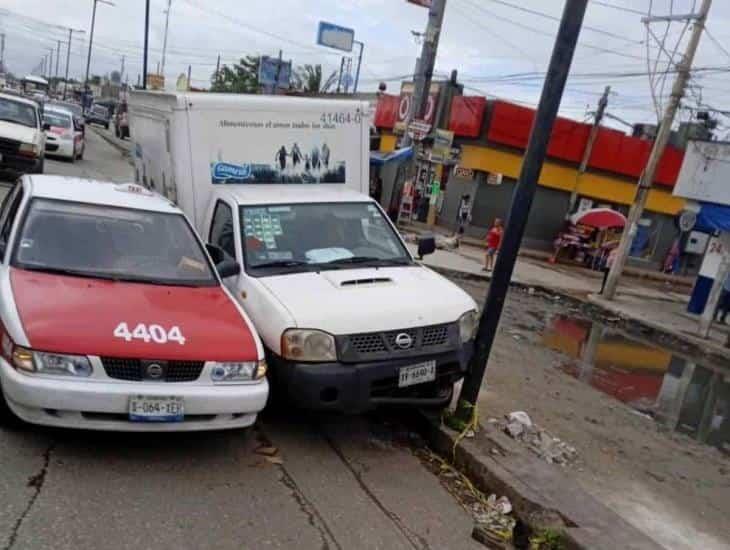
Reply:
[[[339,336],[337,340],[343,361],[374,361],[450,351],[458,348],[459,333],[457,325],[450,323],[387,332],[350,334]],[[409,340],[410,345],[407,345]]]

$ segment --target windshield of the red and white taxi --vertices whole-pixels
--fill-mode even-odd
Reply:
[[[34,199],[13,265],[81,277],[180,286],[217,280],[180,214]]]

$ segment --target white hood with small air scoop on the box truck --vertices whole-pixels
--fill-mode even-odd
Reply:
[[[352,334],[456,321],[471,297],[420,266],[296,273],[261,278],[295,326]]]

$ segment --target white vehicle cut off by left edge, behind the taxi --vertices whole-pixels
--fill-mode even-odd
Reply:
[[[43,173],[46,134],[40,105],[0,93],[0,170]]]

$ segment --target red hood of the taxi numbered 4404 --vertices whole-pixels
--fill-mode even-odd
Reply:
[[[256,360],[254,335],[220,287],[189,288],[11,269],[13,296],[30,347],[77,355],[159,360]],[[183,345],[114,336],[120,323],[180,328]]]

